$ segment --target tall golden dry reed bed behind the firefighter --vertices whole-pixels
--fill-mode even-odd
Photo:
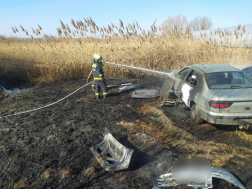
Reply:
[[[235,66],[251,63],[250,49],[220,47],[212,41],[200,41],[181,32],[160,35],[155,22],[150,31],[144,31],[137,22],[125,26],[121,20],[119,26],[111,24],[107,28],[98,27],[91,18],[72,20],[73,28],[60,22],[61,27],[57,28],[59,38],[42,34],[39,25],[30,32],[34,35],[30,35],[33,39],[2,38],[2,74],[45,82],[84,78],[90,72],[92,55],[96,52],[105,61],[165,71],[200,63]],[[12,28],[15,35],[18,32],[28,33],[22,26],[20,28],[20,31],[16,27]],[[105,74],[106,77],[126,77],[140,72],[106,66]]]

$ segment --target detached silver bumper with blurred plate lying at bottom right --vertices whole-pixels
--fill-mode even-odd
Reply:
[[[185,184],[193,188],[213,188],[212,178],[219,178],[232,183],[233,185],[246,189],[246,187],[229,171],[210,166],[204,159],[178,160],[171,170],[159,177],[158,182],[152,189],[177,186]]]

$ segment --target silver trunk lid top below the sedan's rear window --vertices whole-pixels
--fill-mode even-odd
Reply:
[[[209,99],[219,101],[252,101],[252,88],[211,89]]]

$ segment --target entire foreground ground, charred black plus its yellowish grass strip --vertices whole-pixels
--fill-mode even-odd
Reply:
[[[160,89],[164,79],[140,77],[138,84]],[[1,100],[1,115],[49,104],[85,83],[27,85]],[[88,86],[55,106],[0,120],[0,188],[152,188],[180,157],[207,158],[252,188],[250,131],[194,125],[182,105],[159,108],[159,99],[109,94],[96,100]],[[129,169],[106,172],[94,159],[89,148],[102,141],[105,127],[134,149]],[[214,180],[214,188],[236,187]]]

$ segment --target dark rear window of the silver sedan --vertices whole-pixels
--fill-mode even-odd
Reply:
[[[205,74],[210,89],[252,88],[252,80],[243,72],[217,72]]]

